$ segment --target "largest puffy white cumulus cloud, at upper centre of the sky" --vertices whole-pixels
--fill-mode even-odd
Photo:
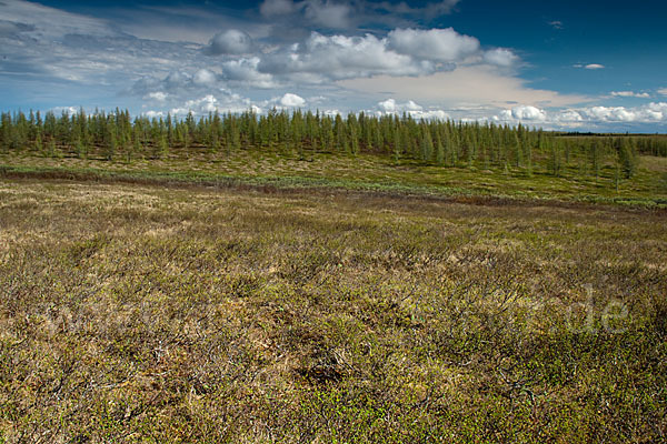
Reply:
[[[257,71],[282,81],[325,83],[376,75],[428,75],[451,71],[457,63],[510,67],[518,57],[508,49],[482,51],[479,41],[454,29],[396,29],[387,37],[323,36],[261,54]]]

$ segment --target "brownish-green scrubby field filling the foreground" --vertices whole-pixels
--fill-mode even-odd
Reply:
[[[663,210],[269,191],[1,179],[0,442],[665,440]]]

